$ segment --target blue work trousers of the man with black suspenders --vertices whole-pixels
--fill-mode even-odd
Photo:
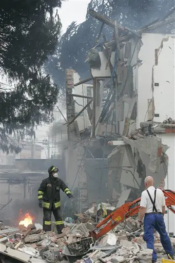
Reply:
[[[152,260],[157,260],[157,254],[154,250],[154,229],[160,234],[162,246],[166,254],[173,257],[173,249],[171,241],[166,232],[165,222],[162,214],[148,214],[144,218],[144,235],[143,239],[146,241],[148,249],[153,249]]]

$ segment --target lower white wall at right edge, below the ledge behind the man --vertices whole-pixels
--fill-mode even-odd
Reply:
[[[162,138],[162,144],[166,144],[169,148],[166,151],[168,155],[168,176],[165,179],[165,189],[175,191],[175,136],[174,134],[157,135]],[[165,223],[168,232],[173,232],[175,235],[175,216],[168,210],[165,215]]]

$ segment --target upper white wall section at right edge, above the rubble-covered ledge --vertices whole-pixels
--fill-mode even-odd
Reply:
[[[155,114],[159,114],[159,117],[154,117],[154,121],[163,122],[169,117],[175,119],[174,43],[172,36],[163,40],[158,65],[153,68],[154,83],[159,84],[154,86],[153,91]]]

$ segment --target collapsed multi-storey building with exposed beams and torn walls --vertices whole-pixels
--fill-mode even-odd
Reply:
[[[85,60],[89,78],[66,70],[66,176],[79,187],[80,212],[95,202],[119,207],[140,197],[148,175],[157,187],[175,187],[174,35],[152,33],[174,23],[172,12],[138,31],[89,14],[102,22],[98,40],[103,34]],[[113,30],[110,42],[104,25]],[[174,220],[167,212],[169,233]]]

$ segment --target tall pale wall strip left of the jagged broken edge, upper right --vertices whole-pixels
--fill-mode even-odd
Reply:
[[[147,121],[148,99],[152,99],[151,83],[152,83],[152,67],[155,62],[155,49],[159,48],[162,39],[168,36],[169,35],[165,35],[165,34],[152,34],[152,33],[142,34],[143,46],[141,47],[141,50],[139,52],[139,59],[142,60],[142,65],[139,67],[139,72],[138,72],[137,128],[140,127],[140,122],[144,120]],[[167,63],[166,60],[164,64],[164,70],[168,67],[169,67],[169,63]],[[162,74],[162,70],[159,73],[160,75]],[[165,101],[164,101],[164,106],[165,106]]]

